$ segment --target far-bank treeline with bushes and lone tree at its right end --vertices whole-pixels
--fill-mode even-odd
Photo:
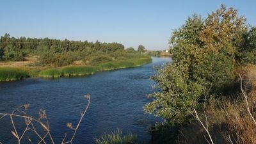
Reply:
[[[142,49],[142,48],[143,49]],[[0,60],[22,61],[24,56],[40,56],[36,65],[52,67],[63,67],[74,61],[83,61],[85,65],[94,65],[95,61],[113,61],[116,58],[126,60],[127,58],[141,58],[143,45],[138,50],[133,48],[124,49],[123,44],[93,43],[88,41],[56,40],[50,38],[14,38],[5,34],[0,39]]]

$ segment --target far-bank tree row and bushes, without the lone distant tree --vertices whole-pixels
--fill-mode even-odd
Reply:
[[[124,51],[118,43],[81,42],[49,38],[0,38],[0,60],[20,61],[26,55],[40,55],[42,65],[61,67],[82,60],[95,52]]]

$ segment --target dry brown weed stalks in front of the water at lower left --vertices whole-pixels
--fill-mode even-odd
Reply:
[[[67,123],[67,127],[74,130],[74,133],[72,134],[72,138],[70,140],[66,141],[65,139],[67,137],[67,133],[65,133],[65,136],[64,136],[61,144],[72,143],[72,141],[74,140],[74,138],[76,136],[76,132],[79,128],[79,125],[81,124],[83,117],[84,117],[87,109],[89,108],[90,102],[91,102],[89,94],[84,95],[84,97],[88,100],[88,104],[87,104],[86,108],[84,109],[83,113],[81,113],[81,118],[80,118],[76,128],[73,128],[71,123]],[[24,140],[24,136],[28,131],[33,132],[38,137],[38,141],[39,141],[38,144],[40,144],[40,143],[46,144],[45,139],[47,138],[47,136],[49,137],[49,140],[51,141],[51,143],[55,144],[54,140],[52,138],[49,121],[48,121],[47,115],[45,113],[45,110],[40,109],[40,111],[39,111],[40,117],[38,119],[36,119],[36,118],[33,118],[32,116],[29,116],[25,112],[29,108],[29,106],[30,106],[29,104],[25,104],[23,106],[20,106],[19,108],[14,109],[12,111],[12,113],[0,113],[0,120],[2,118],[4,118],[5,116],[10,116],[10,120],[11,120],[12,127],[13,127],[13,131],[11,131],[11,132],[12,132],[12,135],[17,139],[17,143],[19,143],[19,144],[22,140]],[[18,112],[19,112],[19,114],[16,114]],[[19,133],[17,131],[15,121],[13,120],[14,117],[24,118],[26,128],[21,133]],[[43,120],[45,122],[43,122]],[[38,129],[36,129],[36,127],[35,127],[36,124],[39,124],[44,129],[45,134],[40,134],[40,132],[38,132]],[[33,141],[30,138],[28,138],[28,141],[33,143]],[[3,143],[0,142],[0,144],[3,144]]]

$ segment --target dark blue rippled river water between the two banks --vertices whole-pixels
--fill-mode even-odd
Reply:
[[[136,133],[140,141],[149,141],[147,129],[156,118],[145,114],[143,106],[150,102],[146,95],[156,92],[152,88],[155,82],[150,80],[156,73],[153,66],[168,61],[170,58],[153,58],[152,63],[142,67],[99,72],[86,77],[33,78],[0,83],[0,113],[11,113],[14,108],[29,103],[28,112],[36,118],[40,108],[46,109],[52,136],[56,143],[61,143],[65,132],[70,134],[71,131],[66,124],[77,124],[87,104],[83,96],[90,93],[92,104],[73,143],[93,144],[104,132],[116,129],[122,129],[124,134]],[[1,119],[0,142],[15,143],[12,130],[10,118]]]

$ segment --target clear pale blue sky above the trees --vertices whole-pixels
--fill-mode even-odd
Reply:
[[[168,48],[172,30],[193,13],[206,17],[220,4],[256,25],[256,1],[243,0],[2,0],[0,35],[120,42],[125,47]]]

